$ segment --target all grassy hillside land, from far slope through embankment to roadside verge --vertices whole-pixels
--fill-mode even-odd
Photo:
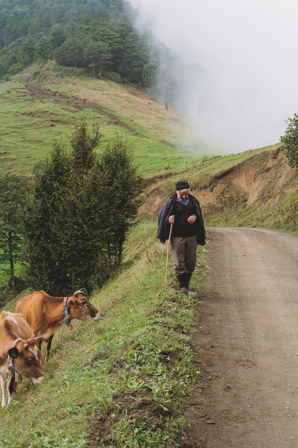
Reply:
[[[157,213],[175,182],[187,179],[206,226],[298,233],[297,171],[281,144],[220,155],[175,110],[165,112],[143,91],[93,78],[59,78],[50,64],[1,84],[0,101],[4,171],[30,175],[54,140],[71,135],[76,117],[83,116],[101,121],[97,151],[115,131],[125,136],[147,179],[123,263],[90,297],[101,310],[100,321],[75,322],[72,332],[57,332],[42,384],[24,379],[13,403],[1,411],[1,445],[187,446],[187,406],[206,405],[200,397],[204,372],[194,360],[191,336],[208,245],[198,247],[192,293],[176,292],[171,261],[164,293],[166,247],[155,240]],[[16,302],[17,297],[4,309],[13,311]]]

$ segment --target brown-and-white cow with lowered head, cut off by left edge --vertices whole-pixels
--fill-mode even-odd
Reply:
[[[38,384],[43,379],[44,370],[40,362],[39,341],[21,313],[2,311],[0,314],[0,383],[2,406],[6,405],[5,386],[8,391],[8,404],[13,400],[15,375],[19,373]]]

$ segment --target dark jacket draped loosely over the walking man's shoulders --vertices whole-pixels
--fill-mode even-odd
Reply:
[[[170,235],[171,224],[168,222],[168,219],[169,219],[169,216],[171,216],[173,214],[172,210],[174,208],[176,198],[177,198],[177,194],[175,193],[167,200],[167,202],[163,205],[163,207],[159,211],[158,230],[157,230],[156,238],[159,238],[159,240],[162,244],[164,244],[165,241],[168,240],[168,237]],[[200,204],[199,204],[198,200],[191,194],[189,194],[189,200],[193,201],[193,206],[196,211],[195,215],[197,216],[197,219],[193,223],[193,225],[195,225],[197,227],[197,244],[199,244],[200,246],[204,246],[204,244],[206,244],[205,228],[204,228]],[[175,223],[173,225],[175,225]]]

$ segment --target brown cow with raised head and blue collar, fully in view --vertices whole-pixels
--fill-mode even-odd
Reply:
[[[46,342],[45,362],[49,359],[53,336],[63,325],[64,318],[71,328],[71,319],[86,320],[88,316],[93,321],[99,319],[99,310],[82,294],[84,292],[80,290],[72,297],[51,297],[44,291],[34,291],[17,301],[15,312],[23,313],[32,330]],[[42,340],[39,342],[39,349]]]

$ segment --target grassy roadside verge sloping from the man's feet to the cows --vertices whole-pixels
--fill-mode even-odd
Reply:
[[[206,272],[195,271],[192,295],[171,290],[172,279],[164,293],[166,250],[155,231],[147,223],[132,230],[123,270],[91,297],[99,323],[60,330],[43,383],[25,379],[1,411],[3,446],[183,446],[184,405],[199,386],[190,338]]]

